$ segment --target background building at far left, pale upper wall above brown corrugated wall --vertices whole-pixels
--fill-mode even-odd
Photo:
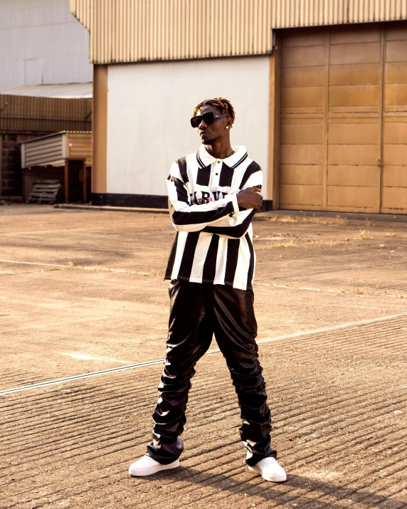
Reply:
[[[88,48],[67,0],[0,1],[0,196],[23,194],[19,143],[90,129]]]

